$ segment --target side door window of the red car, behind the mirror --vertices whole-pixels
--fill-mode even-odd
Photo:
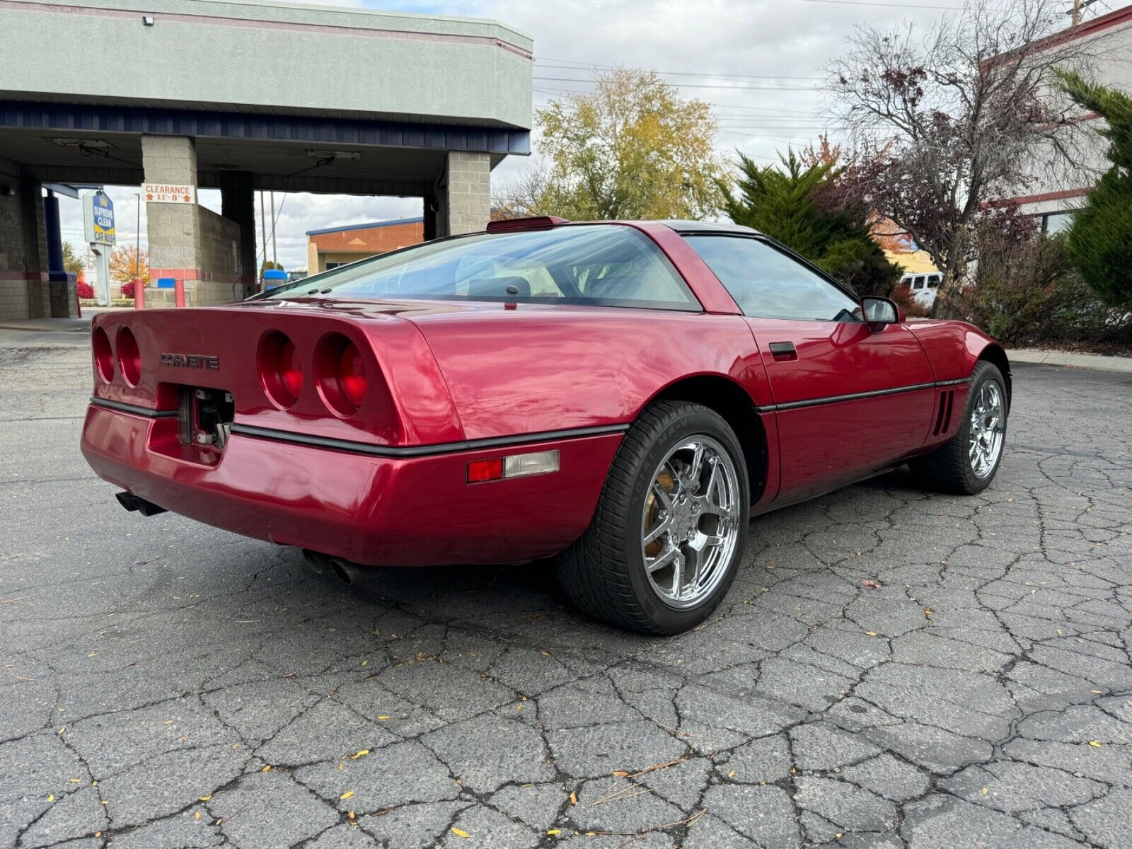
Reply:
[[[860,305],[761,239],[687,234],[685,240],[745,315],[812,321],[859,321]]]

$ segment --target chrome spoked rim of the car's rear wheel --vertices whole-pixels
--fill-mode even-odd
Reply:
[[[695,607],[723,580],[739,540],[739,478],[710,436],[668,452],[649,484],[641,554],[649,583],[669,607]]]

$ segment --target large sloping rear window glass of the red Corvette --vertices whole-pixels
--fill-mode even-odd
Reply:
[[[317,274],[268,295],[295,297],[700,309],[651,239],[612,224],[428,242]]]

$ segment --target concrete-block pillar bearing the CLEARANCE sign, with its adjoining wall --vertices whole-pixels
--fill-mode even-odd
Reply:
[[[197,187],[196,143],[187,136],[143,136],[142,164],[146,182]],[[239,223],[198,203],[147,203],[146,223],[152,286],[162,277],[185,281],[189,307],[243,297]],[[145,306],[173,306],[173,290],[151,288]]]

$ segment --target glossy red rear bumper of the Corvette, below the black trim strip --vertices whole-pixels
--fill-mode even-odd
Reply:
[[[372,456],[233,434],[214,464],[169,451],[175,419],[92,404],[82,448],[103,479],[174,513],[371,565],[555,555],[589,524],[621,432],[427,456]],[[465,481],[469,461],[558,449],[556,473]]]

